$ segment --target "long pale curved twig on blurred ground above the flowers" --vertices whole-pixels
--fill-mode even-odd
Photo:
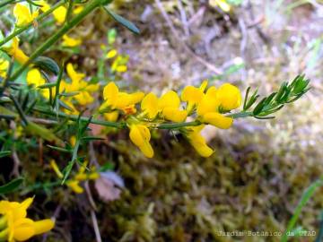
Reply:
[[[188,45],[185,44],[185,42],[179,37],[179,33],[178,31],[175,29],[173,23],[170,21],[170,16],[168,15],[168,13],[166,13],[165,9],[162,6],[162,3],[160,0],[154,0],[159,11],[162,13],[162,17],[164,18],[164,20],[166,21],[167,25],[170,28],[171,33],[173,34],[174,38],[177,39],[178,43],[184,48],[184,50],[186,52],[188,52],[188,54],[192,57],[194,57],[196,59],[197,62],[199,62],[202,65],[205,65],[205,67],[209,70],[211,70],[212,72],[216,73],[216,74],[221,74],[223,73],[222,70],[220,70],[219,68],[217,68],[216,66],[214,66],[213,64],[209,63],[208,61],[206,61],[204,58],[202,58],[201,56],[197,56],[193,50],[191,50],[190,48],[188,48]]]

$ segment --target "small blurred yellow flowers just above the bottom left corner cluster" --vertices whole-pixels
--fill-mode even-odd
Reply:
[[[92,167],[89,172],[85,172],[86,166],[88,165],[88,161],[84,161],[78,172],[74,175],[73,178],[66,181],[66,186],[70,187],[74,193],[83,194],[84,189],[80,186],[80,183],[86,180],[95,180],[100,177],[100,173]],[[57,163],[55,160],[50,160],[50,166],[57,174],[57,177],[63,178],[62,172],[58,169]]]

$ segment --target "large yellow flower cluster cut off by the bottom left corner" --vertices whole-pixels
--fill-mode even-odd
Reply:
[[[22,203],[0,201],[0,241],[25,241],[53,229],[53,220],[34,221],[27,218],[33,198]]]

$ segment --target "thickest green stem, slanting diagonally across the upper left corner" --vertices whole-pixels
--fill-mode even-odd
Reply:
[[[33,60],[42,55],[48,48],[55,44],[58,39],[61,39],[63,35],[65,35],[65,33],[73,29],[78,23],[82,22],[83,19],[89,13],[92,13],[93,10],[99,7],[100,4],[105,4],[106,2],[106,0],[92,0],[90,4],[87,4],[81,13],[77,14],[70,22],[66,22],[65,25],[61,29],[57,30],[57,32],[51,38],[49,38],[44,44],[37,48],[31,54],[28,61],[23,64],[15,73],[13,73],[10,81],[17,79],[17,77],[28,67],[28,65],[31,65]]]

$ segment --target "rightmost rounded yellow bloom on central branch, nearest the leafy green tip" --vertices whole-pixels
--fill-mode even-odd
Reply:
[[[237,87],[224,83],[218,90],[215,87],[209,88],[197,105],[196,113],[205,124],[214,125],[219,128],[229,128],[233,118],[224,117],[220,109],[230,111],[239,108],[241,95]]]

